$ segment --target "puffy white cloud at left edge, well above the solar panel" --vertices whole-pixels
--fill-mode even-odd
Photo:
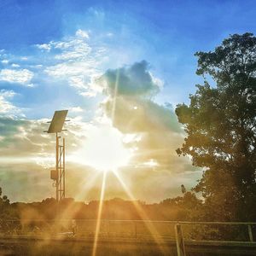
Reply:
[[[28,84],[33,77],[33,73],[28,69],[2,69],[0,71],[0,81],[18,84]]]

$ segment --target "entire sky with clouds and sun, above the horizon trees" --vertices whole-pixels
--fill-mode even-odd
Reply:
[[[104,172],[106,199],[157,202],[181,195],[181,184],[191,189],[202,170],[176,154],[185,133],[175,107],[203,81],[195,52],[254,33],[254,5],[0,0],[3,193],[11,201],[55,196],[55,137],[44,131],[61,109],[70,119],[61,135],[68,197],[99,199]]]

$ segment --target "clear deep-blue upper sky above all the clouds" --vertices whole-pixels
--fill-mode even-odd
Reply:
[[[1,1],[0,46],[30,55],[32,45],[90,31],[119,67],[148,61],[165,82],[160,101],[187,102],[195,91],[197,50],[210,50],[231,33],[255,31],[253,1]],[[106,33],[113,37],[106,38]]]

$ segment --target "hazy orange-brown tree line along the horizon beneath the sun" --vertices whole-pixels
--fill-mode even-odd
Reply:
[[[146,204],[142,201],[125,201],[119,198],[104,201],[102,219],[142,219],[147,216],[154,220],[198,220],[202,201],[194,193],[166,199],[160,203]],[[136,207],[139,205],[139,209]],[[7,206],[7,205],[6,205]],[[6,214],[1,218],[12,219],[96,219],[99,201],[89,203],[66,198],[57,203],[54,198],[41,202],[8,204]],[[8,214],[7,214],[8,212]]]

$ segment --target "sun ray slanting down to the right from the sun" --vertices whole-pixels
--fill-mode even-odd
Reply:
[[[148,220],[147,213],[144,212],[143,207],[140,206],[140,204],[137,202],[134,195],[132,195],[131,190],[127,188],[125,182],[123,181],[122,177],[120,177],[119,173],[116,171],[113,171],[113,174],[115,175],[115,177],[117,177],[117,179],[119,180],[119,183],[121,183],[123,189],[125,189],[125,193],[130,197],[130,199],[131,199],[134,207],[136,208],[137,213],[140,215],[140,217],[144,220]],[[150,223],[149,221],[146,221],[145,224],[146,224],[148,231],[153,236],[154,241],[160,248],[161,253],[163,253],[163,254],[168,253],[163,247],[161,247],[161,244],[163,244],[164,241],[163,241],[162,237],[160,236],[159,232],[154,228],[154,224]]]

